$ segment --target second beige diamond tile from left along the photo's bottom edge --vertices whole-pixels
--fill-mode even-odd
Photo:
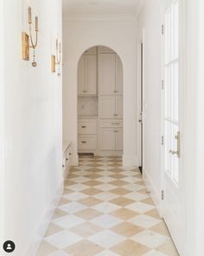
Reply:
[[[92,243],[89,240],[82,240],[73,246],[67,247],[65,251],[75,256],[94,256],[104,250],[103,247]]]

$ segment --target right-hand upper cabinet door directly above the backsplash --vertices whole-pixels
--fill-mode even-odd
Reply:
[[[85,94],[97,95],[97,56],[85,56]]]

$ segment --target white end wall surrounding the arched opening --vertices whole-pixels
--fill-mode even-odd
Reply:
[[[63,134],[73,141],[77,156],[77,67],[92,46],[104,45],[118,53],[124,66],[124,165],[137,165],[137,22],[132,19],[64,19],[63,21]]]

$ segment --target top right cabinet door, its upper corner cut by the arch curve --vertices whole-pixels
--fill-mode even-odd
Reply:
[[[120,60],[120,57],[116,56],[116,94],[123,95],[124,90],[124,71],[123,64]]]

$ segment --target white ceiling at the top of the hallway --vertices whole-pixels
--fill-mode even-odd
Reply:
[[[139,0],[63,0],[64,15],[137,14]]]

